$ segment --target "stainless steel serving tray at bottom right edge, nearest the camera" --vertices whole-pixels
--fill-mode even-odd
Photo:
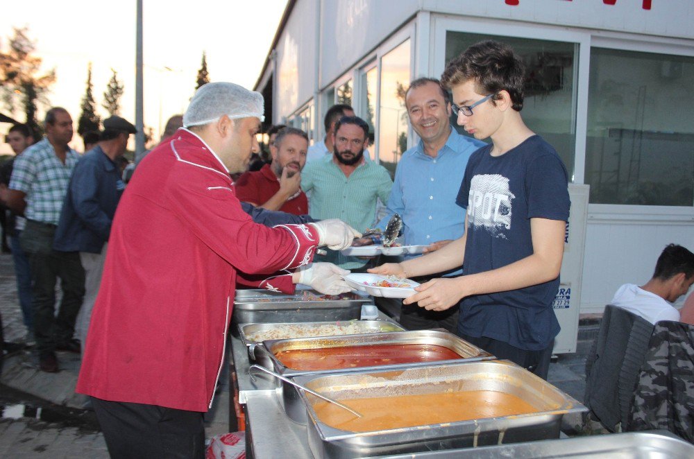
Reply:
[[[564,456],[600,459],[691,459],[694,458],[694,445],[668,431],[644,431],[588,435],[543,442],[500,444],[493,447],[428,451],[387,457],[391,459],[534,459]]]

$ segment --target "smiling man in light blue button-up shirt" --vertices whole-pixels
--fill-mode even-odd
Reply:
[[[419,143],[403,153],[398,162],[393,189],[388,200],[387,215],[377,227],[385,229],[393,214],[403,217],[405,245],[429,245],[430,252],[465,231],[465,211],[455,204],[468,159],[484,142],[459,135],[450,125],[448,93],[434,78],[418,78],[409,85],[405,105],[412,129]],[[418,255],[407,255],[416,257]],[[457,276],[462,269],[443,274]],[[438,273],[433,277],[441,277]],[[419,282],[428,279],[416,279]],[[397,308],[398,304],[378,298],[382,307]],[[457,329],[457,308],[447,311],[427,311],[416,304],[404,306],[400,323],[408,329],[443,327]]]

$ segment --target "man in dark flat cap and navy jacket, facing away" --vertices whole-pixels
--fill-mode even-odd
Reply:
[[[75,166],[60,212],[53,248],[80,252],[85,270],[85,297],[75,327],[82,350],[99,293],[111,223],[125,189],[118,159],[135,132],[135,126],[120,116],[103,121],[99,143]]]

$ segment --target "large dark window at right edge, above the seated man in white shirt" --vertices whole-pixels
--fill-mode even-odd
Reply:
[[[591,49],[591,202],[693,205],[693,106],[694,58]]]

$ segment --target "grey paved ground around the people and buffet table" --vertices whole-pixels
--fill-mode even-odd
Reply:
[[[8,254],[0,254],[0,311],[3,318],[5,339],[19,340],[25,334],[21,312],[17,302],[14,269]],[[550,365],[548,380],[575,399],[582,401],[585,389],[585,358],[596,327],[581,327],[576,354],[564,354]],[[85,398],[74,393],[80,358],[76,354],[58,353],[61,371],[55,374],[40,372],[37,358],[31,352],[19,352],[6,358],[0,383],[37,399],[71,408],[78,413]],[[208,437],[226,433],[229,429],[228,376],[222,376],[224,386],[215,399],[213,410],[206,423]],[[0,387],[1,389],[1,387]],[[0,397],[0,458],[102,458],[108,457],[103,435],[98,425],[66,426],[64,422],[46,422],[35,419],[35,414],[19,413],[16,419],[8,418],[8,410],[16,408]],[[1,406],[5,404],[5,406]],[[11,414],[11,413],[10,413]],[[579,417],[566,419],[565,426],[580,424]]]

